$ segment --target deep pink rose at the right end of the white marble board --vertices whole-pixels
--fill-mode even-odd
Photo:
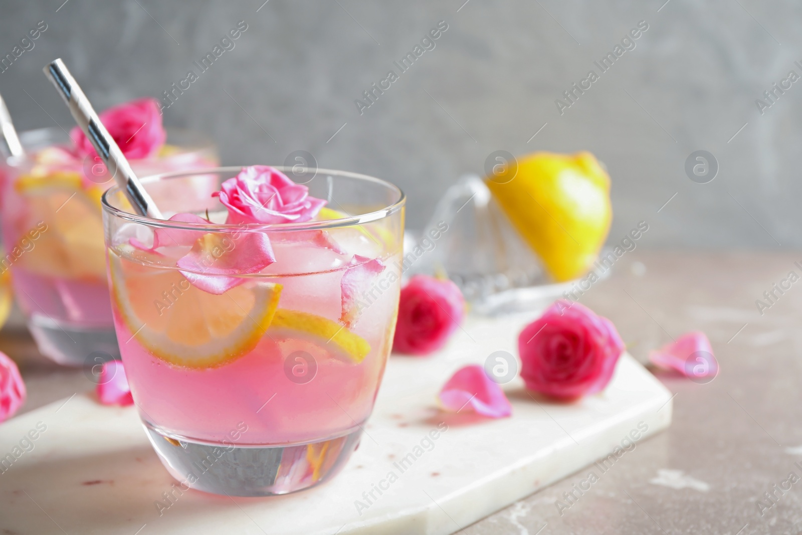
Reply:
[[[529,390],[569,400],[610,383],[624,342],[609,319],[561,299],[520,332],[518,351]]]

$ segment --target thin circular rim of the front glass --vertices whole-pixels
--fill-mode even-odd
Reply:
[[[242,170],[241,165],[215,167],[215,168],[199,168],[191,171],[178,171],[178,172],[164,172],[157,175],[144,176],[140,178],[143,185],[159,182],[164,179],[179,178],[181,176],[203,176],[205,174],[221,173],[221,172],[235,172],[238,173]],[[281,172],[291,171],[292,166],[286,165],[271,165],[270,167],[277,169]],[[125,221],[132,223],[139,223],[148,227],[155,227],[161,229],[178,229],[178,230],[205,230],[206,232],[219,232],[231,233],[237,232],[289,232],[298,230],[323,230],[334,229],[338,227],[347,227],[354,225],[361,225],[371,221],[378,221],[384,219],[392,214],[398,212],[403,208],[407,202],[407,196],[403,190],[397,185],[388,180],[376,178],[375,176],[363,175],[358,172],[338,171],[336,169],[315,169],[315,176],[319,173],[329,174],[334,176],[347,176],[356,178],[358,180],[367,180],[374,184],[381,184],[393,191],[398,195],[398,199],[391,205],[384,206],[381,209],[373,210],[367,213],[361,213],[354,216],[341,217],[339,219],[326,219],[323,221],[303,221],[303,222],[290,222],[290,223],[186,223],[184,221],[168,221],[166,219],[156,219],[154,217],[140,216],[137,213],[126,212],[119,208],[115,208],[108,201],[108,196],[116,194],[120,191],[119,184],[113,184],[103,192],[100,197],[100,204],[103,206],[103,213],[109,216],[119,217]]]

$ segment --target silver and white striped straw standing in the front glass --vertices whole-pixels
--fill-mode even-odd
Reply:
[[[108,172],[114,176],[117,185],[128,197],[128,201],[131,201],[136,212],[140,216],[164,219],[153,199],[144,190],[140,180],[136,178],[136,174],[123,156],[123,152],[119,150],[115,140],[111,138],[106,127],[100,122],[87,95],[83,94],[81,87],[75,82],[75,78],[72,77],[64,62],[60,58],[56,59],[43,70],[47,78],[59,90],[64,103],[67,103],[67,107],[70,108],[73,119],[83,130],[100,159],[106,164]]]

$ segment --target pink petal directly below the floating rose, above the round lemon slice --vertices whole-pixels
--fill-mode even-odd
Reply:
[[[220,295],[246,282],[237,275],[253,274],[276,261],[263,232],[207,233],[176,262],[192,286]]]

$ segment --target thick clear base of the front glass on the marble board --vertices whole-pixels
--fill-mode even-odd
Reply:
[[[275,496],[314,487],[339,472],[362,435],[355,428],[320,442],[237,446],[168,436],[148,422],[144,428],[179,488],[229,496]]]

